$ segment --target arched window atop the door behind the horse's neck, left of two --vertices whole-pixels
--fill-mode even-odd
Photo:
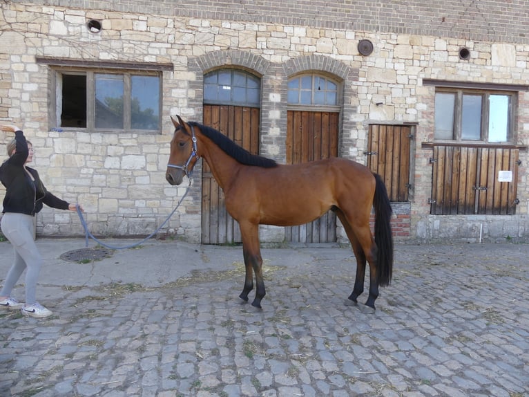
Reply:
[[[235,69],[207,73],[204,75],[204,103],[260,107],[260,79]]]

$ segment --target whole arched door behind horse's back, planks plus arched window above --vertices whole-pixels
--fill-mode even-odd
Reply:
[[[338,84],[320,75],[289,80],[287,163],[338,156]],[[336,241],[336,215],[327,212],[305,225],[285,228],[285,239],[300,243]]]

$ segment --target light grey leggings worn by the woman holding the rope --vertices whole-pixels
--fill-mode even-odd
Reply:
[[[33,239],[34,217],[15,212],[6,212],[2,216],[2,233],[10,241],[15,252],[13,262],[6,282],[0,291],[0,296],[10,296],[11,290],[26,270],[26,304],[34,304],[36,300],[37,279],[42,266],[42,257]]]

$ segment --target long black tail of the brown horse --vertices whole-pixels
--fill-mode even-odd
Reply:
[[[391,226],[392,206],[384,181],[374,174],[376,187],[373,206],[375,209],[375,243],[378,248],[376,275],[379,286],[387,286],[393,273],[393,235]]]

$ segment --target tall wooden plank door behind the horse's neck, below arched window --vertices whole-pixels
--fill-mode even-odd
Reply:
[[[224,133],[252,154],[259,152],[259,113],[253,107],[204,104],[204,125]],[[239,224],[227,212],[224,192],[202,163],[202,243],[240,243]]]

